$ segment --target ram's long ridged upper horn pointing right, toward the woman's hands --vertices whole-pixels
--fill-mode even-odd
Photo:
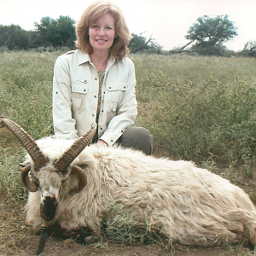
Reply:
[[[90,130],[86,131],[83,136],[79,137],[73,145],[55,161],[54,166],[59,172],[64,172],[73,160],[83,151],[83,149],[90,143],[96,133],[96,123],[91,125]]]

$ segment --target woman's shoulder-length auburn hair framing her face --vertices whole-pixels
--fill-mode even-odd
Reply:
[[[110,49],[110,54],[113,57],[117,57],[120,61],[129,53],[127,45],[130,43],[131,33],[126,25],[124,15],[113,3],[96,1],[84,10],[79,22],[76,24],[76,46],[87,54],[92,53],[93,49],[90,45],[89,27],[95,23],[98,18],[106,14],[113,16],[116,34],[116,38],[114,38],[113,45]]]

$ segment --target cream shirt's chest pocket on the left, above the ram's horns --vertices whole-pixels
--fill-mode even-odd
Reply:
[[[72,82],[72,108],[73,111],[80,113],[84,109],[86,96],[88,93],[88,84],[79,80]]]

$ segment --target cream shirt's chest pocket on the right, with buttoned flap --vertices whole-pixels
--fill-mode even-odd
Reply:
[[[106,83],[106,88],[108,102],[116,104],[122,101],[125,90],[127,90],[127,83],[123,81],[108,81]]]

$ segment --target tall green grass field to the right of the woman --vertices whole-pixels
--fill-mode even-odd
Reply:
[[[185,160],[210,155],[218,155],[226,163],[253,160],[253,60],[249,64],[209,57],[152,58],[141,56],[134,61],[137,75],[143,78],[137,84],[137,122],[152,131],[155,147]],[[151,64],[147,70],[144,63],[158,65]]]

